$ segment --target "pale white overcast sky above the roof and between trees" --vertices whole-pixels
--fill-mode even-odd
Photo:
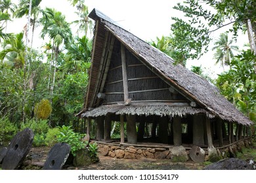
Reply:
[[[140,39],[144,41],[156,41],[156,37],[162,35],[167,36],[171,33],[170,27],[173,23],[172,16],[181,18],[182,12],[174,10],[173,7],[177,3],[182,3],[183,0],[158,0],[158,1],[146,1],[146,0],[85,0],[85,4],[89,7],[89,12],[96,8],[116,21],[117,24],[130,31]],[[18,0],[13,0],[18,2]],[[75,7],[70,5],[68,0],[43,0],[40,4],[41,8],[51,7],[62,12],[66,16],[67,22],[76,20]],[[12,22],[9,26],[12,32],[19,33],[22,31],[24,25],[26,25],[26,18]],[[212,34],[213,41],[209,45],[209,50],[213,47],[213,42],[219,37],[220,33],[225,30]],[[35,31],[35,41],[33,44],[37,48],[45,44],[46,40],[39,39],[39,29]],[[242,47],[247,41],[247,36],[242,35],[238,39],[236,45]],[[202,66],[205,73],[215,77],[216,74],[221,73],[222,69],[218,65],[215,65],[213,60],[213,52],[209,51],[202,56],[199,60],[188,61],[186,67],[191,68],[192,65]]]

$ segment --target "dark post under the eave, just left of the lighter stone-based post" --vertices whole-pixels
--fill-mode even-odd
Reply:
[[[168,143],[168,121],[169,118],[168,116],[162,116],[160,118],[160,122],[159,122],[159,137],[160,137],[160,141],[163,144],[167,144]]]

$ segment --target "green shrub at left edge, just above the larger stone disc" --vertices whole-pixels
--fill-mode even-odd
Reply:
[[[17,132],[18,128],[8,118],[0,119],[0,142],[10,142]]]

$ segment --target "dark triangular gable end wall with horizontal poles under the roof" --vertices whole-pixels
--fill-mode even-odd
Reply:
[[[115,41],[113,38],[110,40],[112,40],[110,44],[105,44],[109,47],[104,48],[104,50],[108,50],[105,51],[108,54],[105,53],[106,58],[101,59],[106,63],[100,63],[104,71],[98,73],[98,78],[102,80],[102,83],[98,91],[95,91],[95,93],[100,93],[95,105],[112,105],[114,103],[120,105],[129,99],[131,103],[137,105],[140,103],[147,105],[161,103],[161,105],[164,105],[165,103],[173,106],[188,106],[188,99],[177,92],[174,86],[170,86],[150,71],[125,46],[121,46],[121,42],[117,39]],[[125,89],[127,90],[126,97],[125,83],[127,85],[127,89]],[[100,99],[100,97],[103,99]],[[91,107],[97,106],[92,105]]]

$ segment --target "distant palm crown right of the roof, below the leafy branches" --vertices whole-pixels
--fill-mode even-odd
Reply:
[[[230,59],[234,58],[233,51],[238,51],[238,46],[232,45],[233,40],[228,40],[228,33],[221,33],[219,39],[214,42],[216,46],[212,50],[216,50],[213,58],[217,59],[216,63],[221,63],[224,71],[224,65],[230,65]]]

